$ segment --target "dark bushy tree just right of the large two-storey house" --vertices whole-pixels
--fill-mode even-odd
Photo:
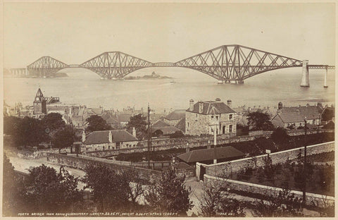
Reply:
[[[273,123],[266,113],[254,111],[248,114],[248,125],[251,130],[273,130]]]

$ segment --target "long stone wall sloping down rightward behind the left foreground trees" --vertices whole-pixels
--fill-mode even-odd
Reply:
[[[116,164],[107,159],[100,158],[89,158],[89,157],[77,157],[76,155],[64,155],[64,154],[47,154],[47,161],[51,161],[55,164],[60,164],[64,166],[74,167],[76,169],[85,169],[89,164],[104,164],[104,166],[108,166],[113,170],[121,170],[121,171],[137,171],[142,178],[150,181],[154,181],[161,177],[161,171],[156,171],[152,169],[144,169],[136,166],[127,166],[123,164]]]

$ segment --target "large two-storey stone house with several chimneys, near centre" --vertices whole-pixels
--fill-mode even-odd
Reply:
[[[185,134],[204,135],[217,134],[236,135],[236,111],[231,108],[231,100],[227,104],[216,101],[196,102],[190,100],[189,109],[185,111]]]

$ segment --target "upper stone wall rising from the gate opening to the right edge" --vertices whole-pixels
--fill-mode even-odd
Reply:
[[[330,152],[334,150],[334,141],[333,142],[325,142],[318,145],[311,145],[306,147],[306,154],[319,154],[322,152]],[[273,160],[273,164],[277,163],[284,163],[287,161],[287,159],[296,159],[297,154],[301,151],[301,154],[303,155],[304,147],[298,147],[295,149],[288,149],[284,150],[282,152],[275,152],[272,154],[269,154],[270,158]],[[267,154],[263,154],[256,157],[257,160],[257,166],[263,166],[263,157],[266,157]],[[206,174],[210,176],[220,176],[223,174],[228,174],[231,172],[237,172],[240,169],[242,169],[244,166],[247,165],[248,161],[251,160],[252,157],[247,157],[244,159],[237,159],[233,161],[227,161],[219,164],[201,164],[198,163],[198,166],[204,166],[206,169]],[[197,173],[196,169],[196,176],[199,179],[201,173]]]

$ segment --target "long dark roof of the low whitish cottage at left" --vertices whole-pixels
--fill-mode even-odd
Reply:
[[[110,130],[113,136],[113,142],[137,141],[132,134],[126,130]],[[85,145],[109,143],[109,130],[96,130],[87,135],[84,141]]]

